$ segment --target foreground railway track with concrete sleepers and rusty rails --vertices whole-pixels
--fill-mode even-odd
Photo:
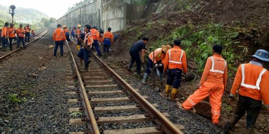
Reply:
[[[69,113],[83,113],[81,119],[72,118],[69,124],[87,125],[84,132],[69,134],[183,134],[182,125],[171,123],[166,118],[168,113],[160,113],[157,104],[150,104],[147,96],[140,95],[135,85],[128,84],[99,57],[93,55],[89,71],[84,71],[84,63],[76,62],[78,58],[68,48],[76,78],[69,78],[68,83],[75,84],[69,86],[72,91],[67,93],[78,96],[68,102],[80,104],[69,108]],[[142,125],[132,128],[129,123]]]

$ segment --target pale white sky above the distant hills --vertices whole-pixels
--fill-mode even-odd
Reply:
[[[67,8],[81,0],[1,0],[0,4],[37,9],[49,17],[59,18],[67,12]],[[16,9],[15,9],[16,10]]]

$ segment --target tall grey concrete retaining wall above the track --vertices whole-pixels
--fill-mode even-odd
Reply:
[[[71,30],[78,24],[91,24],[104,28],[105,31],[108,27],[112,27],[112,32],[115,32],[134,20],[146,18],[153,12],[161,12],[164,7],[162,2],[143,5],[132,4],[132,0],[92,0],[52,22],[52,27],[61,24],[67,25]]]

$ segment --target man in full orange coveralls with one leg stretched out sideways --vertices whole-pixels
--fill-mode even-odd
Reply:
[[[219,124],[221,113],[221,99],[227,83],[227,63],[221,56],[222,46],[213,46],[213,56],[206,61],[205,69],[197,85],[197,89],[182,104],[185,110],[191,109],[194,105],[210,96],[212,123]]]

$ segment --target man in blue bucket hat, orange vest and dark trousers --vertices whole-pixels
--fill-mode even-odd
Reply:
[[[262,108],[262,101],[269,112],[269,71],[263,65],[269,62],[269,52],[258,50],[248,64],[238,67],[229,95],[234,98],[239,89],[239,101],[233,119],[227,123],[221,134],[229,134],[247,111],[247,126],[243,134],[252,134]]]

